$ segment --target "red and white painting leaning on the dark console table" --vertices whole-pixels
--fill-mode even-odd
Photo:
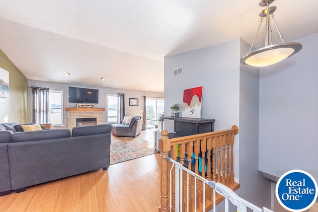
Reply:
[[[201,118],[203,87],[183,91],[182,117]]]

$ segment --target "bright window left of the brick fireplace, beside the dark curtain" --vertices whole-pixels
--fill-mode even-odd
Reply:
[[[63,125],[63,91],[49,91],[50,123]]]

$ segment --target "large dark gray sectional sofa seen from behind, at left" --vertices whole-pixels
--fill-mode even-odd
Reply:
[[[0,124],[0,196],[110,165],[111,125],[17,132]],[[15,128],[14,128],[15,127]]]

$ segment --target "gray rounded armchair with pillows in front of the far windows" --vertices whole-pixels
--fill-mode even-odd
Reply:
[[[143,127],[143,119],[140,116],[134,116],[129,124],[113,124],[112,133],[115,136],[129,136],[136,137],[141,134]]]

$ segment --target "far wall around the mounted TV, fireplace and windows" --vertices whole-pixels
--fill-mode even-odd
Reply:
[[[69,86],[73,87],[84,87],[98,89],[98,104],[94,104],[95,108],[106,108],[106,93],[107,94],[125,94],[125,110],[126,116],[143,116],[144,110],[144,97],[161,97],[163,98],[163,93],[158,92],[147,92],[147,91],[137,91],[137,90],[125,90],[118,88],[107,88],[107,87],[97,87],[83,84],[68,84],[68,83],[58,83],[58,82],[45,82],[37,80],[28,80],[28,93],[29,93],[29,121],[32,121],[32,101],[31,101],[31,86],[38,87],[48,87],[50,89],[63,90],[63,106],[64,108],[75,108],[76,103],[69,103]],[[138,98],[138,106],[129,106],[129,98]],[[66,112],[64,111],[64,122],[65,128],[67,128],[66,122]],[[104,122],[106,123],[106,113],[104,113]]]

